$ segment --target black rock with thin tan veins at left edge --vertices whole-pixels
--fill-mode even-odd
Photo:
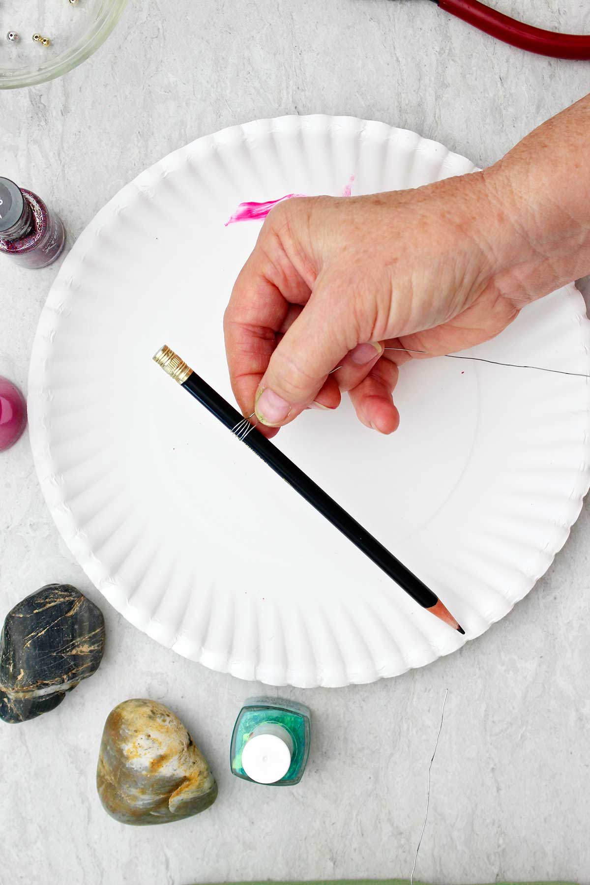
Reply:
[[[47,584],[6,615],[0,637],[0,718],[55,709],[103,658],[103,612],[70,584]]]

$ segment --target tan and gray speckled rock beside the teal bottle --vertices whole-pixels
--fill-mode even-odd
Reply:
[[[217,798],[207,760],[178,717],[142,699],[109,713],[96,788],[111,817],[140,826],[188,818]]]

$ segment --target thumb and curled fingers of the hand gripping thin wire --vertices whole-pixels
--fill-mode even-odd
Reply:
[[[234,394],[242,413],[254,408],[259,429],[271,436],[270,428],[308,407],[336,408],[339,388],[354,390],[364,423],[390,433],[397,423],[393,364],[383,360],[379,368],[382,343],[358,343],[366,322],[356,317],[349,277],[338,267],[316,275],[304,218],[303,210],[273,211],[234,285],[224,318]]]

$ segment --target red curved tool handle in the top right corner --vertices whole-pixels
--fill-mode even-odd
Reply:
[[[557,34],[544,31],[540,27],[525,25],[522,21],[510,19],[479,3],[478,0],[434,0],[441,9],[456,15],[470,25],[479,27],[498,40],[517,46],[518,49],[537,52],[552,58],[590,58],[590,36]]]

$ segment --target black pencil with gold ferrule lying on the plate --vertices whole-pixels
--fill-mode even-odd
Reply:
[[[410,569],[406,568],[383,544],[379,543],[377,538],[374,538],[356,522],[356,519],[353,519],[340,504],[336,504],[332,497],[319,488],[317,483],[310,480],[310,477],[303,473],[303,470],[296,466],[290,458],[287,458],[287,455],[284,455],[265,436],[258,433],[257,429],[249,424],[248,419],[245,419],[240,412],[234,409],[234,406],[230,405],[223,396],[219,396],[173,350],[164,345],[164,347],[157,351],[154,359],[157,365],[161,366],[174,381],[178,381],[185,390],[188,390],[188,393],[195,396],[195,399],[198,399],[199,403],[204,405],[211,414],[215,415],[222,424],[229,430],[234,431],[235,435],[249,449],[256,452],[269,467],[272,467],[275,473],[279,474],[281,479],[287,481],[295,491],[299,492],[306,501],[315,507],[322,516],[325,516],[333,526],[338,528],[342,535],[345,535],[359,550],[362,550],[365,556],[370,558],[376,566],[379,566],[412,599],[415,599],[419,605],[432,612],[437,618],[443,620],[449,627],[453,627],[454,630],[464,634],[463,627],[448,612],[448,609],[441,603],[439,597],[433,593],[433,590],[427,588],[415,574],[410,572]]]

